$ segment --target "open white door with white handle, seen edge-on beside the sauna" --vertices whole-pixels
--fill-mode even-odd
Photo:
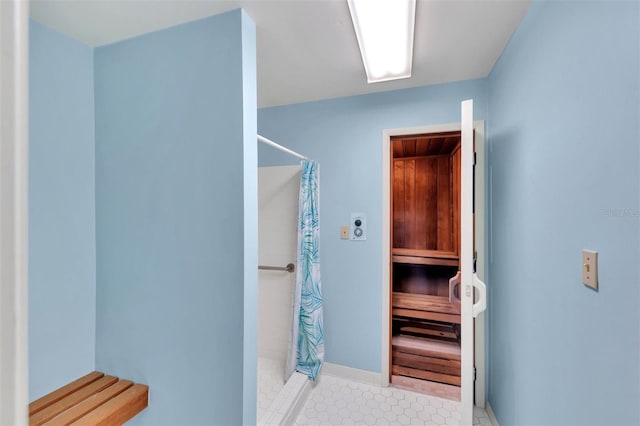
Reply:
[[[473,424],[473,319],[486,308],[486,287],[475,274],[473,265],[473,100],[462,102],[462,161],[461,161],[461,200],[460,200],[460,270],[461,286],[461,424]],[[474,288],[478,290],[474,304]]]

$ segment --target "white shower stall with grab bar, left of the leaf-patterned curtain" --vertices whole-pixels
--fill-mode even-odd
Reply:
[[[296,263],[300,166],[258,169],[258,424],[295,419],[310,382],[294,373],[285,383]],[[295,267],[295,266],[294,266]]]

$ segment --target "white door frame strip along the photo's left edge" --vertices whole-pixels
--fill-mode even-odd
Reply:
[[[29,2],[0,0],[0,424],[28,424]]]

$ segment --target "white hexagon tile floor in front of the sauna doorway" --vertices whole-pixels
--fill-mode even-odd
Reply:
[[[323,375],[300,410],[295,426],[460,424],[460,403],[397,388],[382,388]],[[475,408],[473,424],[492,426]]]

